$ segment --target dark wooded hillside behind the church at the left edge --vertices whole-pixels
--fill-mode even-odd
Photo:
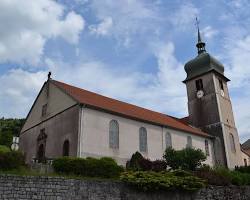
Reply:
[[[11,146],[13,136],[18,136],[25,119],[0,119],[0,145]]]

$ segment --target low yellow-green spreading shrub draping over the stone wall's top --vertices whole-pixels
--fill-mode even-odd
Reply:
[[[181,174],[181,176],[179,176]],[[205,182],[185,172],[124,172],[120,179],[126,184],[142,191],[186,190],[196,191],[205,186]]]

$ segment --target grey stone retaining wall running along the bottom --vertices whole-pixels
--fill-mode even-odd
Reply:
[[[118,181],[0,175],[0,199],[250,200],[250,187],[209,186],[196,193],[137,192]]]

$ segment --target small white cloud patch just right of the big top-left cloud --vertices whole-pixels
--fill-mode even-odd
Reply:
[[[113,20],[111,17],[106,17],[98,25],[89,26],[90,32],[96,35],[107,35],[111,30]]]

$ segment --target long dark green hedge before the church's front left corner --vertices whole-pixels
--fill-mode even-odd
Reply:
[[[79,175],[84,177],[116,178],[123,168],[112,158],[70,158],[62,157],[53,161],[57,173]]]

